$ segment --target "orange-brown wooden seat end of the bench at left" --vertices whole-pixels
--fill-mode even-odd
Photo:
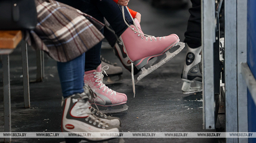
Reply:
[[[21,39],[21,30],[0,31],[0,49],[15,49]]]

